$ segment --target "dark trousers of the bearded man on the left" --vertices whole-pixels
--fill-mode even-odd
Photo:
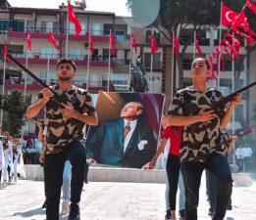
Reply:
[[[71,202],[78,203],[85,172],[85,148],[79,142],[69,144],[62,153],[45,154],[44,182],[46,197],[46,220],[59,220],[59,204],[63,183],[65,161],[72,164]]]

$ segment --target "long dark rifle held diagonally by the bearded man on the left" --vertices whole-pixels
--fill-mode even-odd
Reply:
[[[30,77],[32,77],[36,82],[38,82],[41,86],[44,88],[48,88],[51,90],[54,94],[53,99],[60,105],[62,103],[62,100],[60,99],[60,96],[46,83],[44,83],[40,78],[38,78],[34,73],[32,73],[26,66],[23,66],[19,61],[17,61],[15,58],[13,58],[10,54],[7,54],[6,57],[12,61],[14,64],[22,68]],[[61,106],[61,105],[60,105]]]

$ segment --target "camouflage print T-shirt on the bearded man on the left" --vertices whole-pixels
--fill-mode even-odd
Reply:
[[[58,84],[52,89],[59,95],[61,103],[72,105],[80,113],[91,114],[95,111],[90,94],[83,89],[72,86],[69,90],[63,90]],[[38,95],[42,98],[42,94]],[[84,123],[67,118],[62,114],[62,107],[54,99],[46,104],[47,134],[45,154],[60,153],[70,143],[81,140]]]

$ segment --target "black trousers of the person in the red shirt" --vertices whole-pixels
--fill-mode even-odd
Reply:
[[[174,154],[169,154],[167,163],[166,163],[166,171],[168,175],[168,183],[169,183],[169,202],[170,209],[176,210],[176,197],[178,191],[178,182],[179,182],[179,156]]]

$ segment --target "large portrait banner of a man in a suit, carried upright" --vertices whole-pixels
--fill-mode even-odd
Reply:
[[[100,92],[99,124],[90,126],[86,138],[87,161],[131,168],[149,162],[157,150],[164,98],[163,94]]]

